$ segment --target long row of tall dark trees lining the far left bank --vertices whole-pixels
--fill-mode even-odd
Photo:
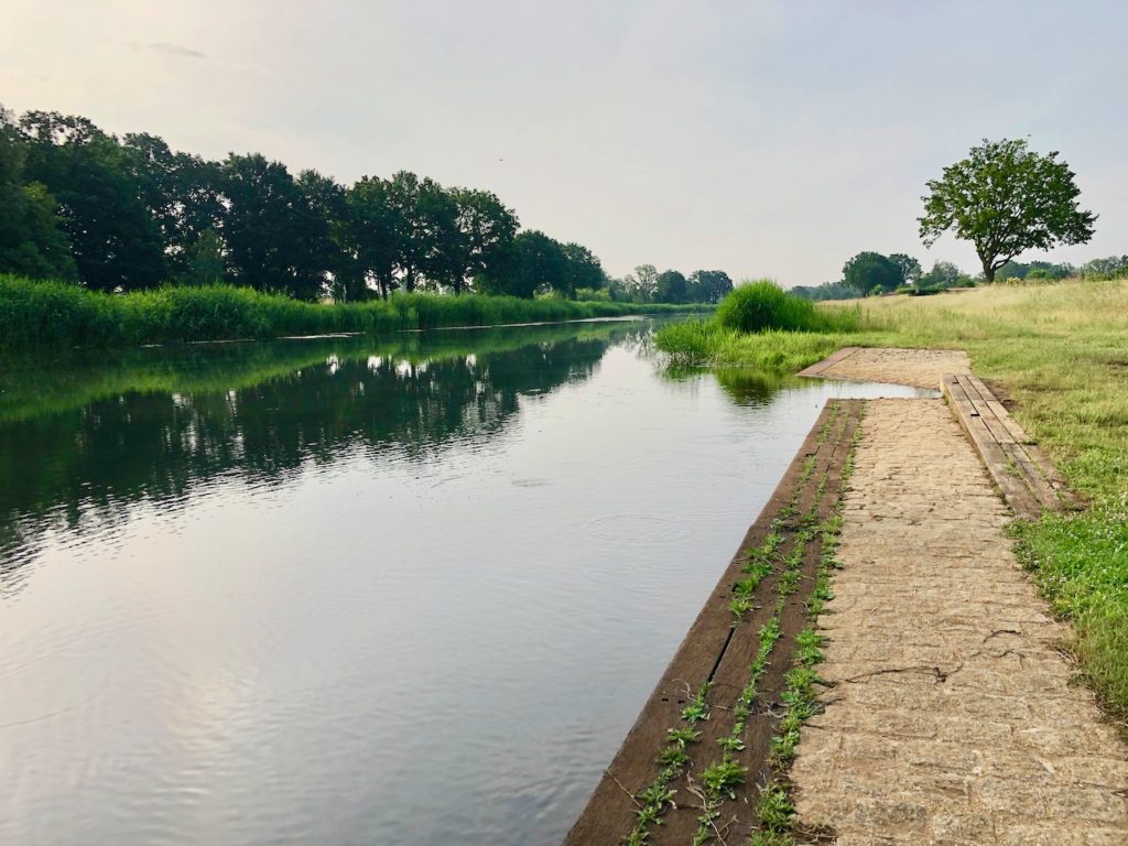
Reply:
[[[613,280],[587,247],[520,230],[487,191],[399,171],[341,185],[259,153],[223,161],[85,117],[0,108],[0,273],[92,291],[229,283],[315,301],[393,291],[716,302],[720,271]]]

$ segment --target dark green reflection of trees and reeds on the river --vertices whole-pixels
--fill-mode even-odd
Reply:
[[[647,335],[614,323],[10,363],[0,377],[0,572],[10,582],[49,529],[102,529],[139,501],[175,506],[224,474],[283,484],[358,443],[424,460],[492,438],[519,397],[587,379],[609,344]]]

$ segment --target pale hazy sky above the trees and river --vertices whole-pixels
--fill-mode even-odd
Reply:
[[[5,0],[0,104],[351,183],[485,188],[522,227],[785,287],[917,235],[984,138],[1059,150],[1128,253],[1128,2]]]

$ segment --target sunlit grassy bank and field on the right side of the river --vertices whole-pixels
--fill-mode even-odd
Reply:
[[[1017,525],[1017,553],[1073,620],[1089,684],[1128,717],[1128,282],[995,287],[860,308],[849,333],[742,335],[695,321],[663,329],[658,345],[682,364],[786,372],[847,345],[966,350],[1091,503]]]

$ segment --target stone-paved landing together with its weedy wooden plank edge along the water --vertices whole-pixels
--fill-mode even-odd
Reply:
[[[1029,442],[955,376],[962,353],[862,349],[820,370],[967,380]],[[1123,741],[1072,684],[1070,627],[1007,537],[1021,491],[1001,500],[960,402],[825,409],[569,843],[1123,841]]]

